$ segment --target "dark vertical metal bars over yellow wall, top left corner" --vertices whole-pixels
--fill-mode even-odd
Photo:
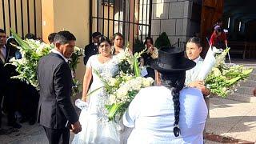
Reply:
[[[42,0],[0,1],[0,28],[10,35],[10,28],[24,38],[27,33],[42,37]]]

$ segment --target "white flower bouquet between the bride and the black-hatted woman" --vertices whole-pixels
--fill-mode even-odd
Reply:
[[[138,91],[151,86],[154,82],[153,78],[142,78],[141,76],[142,67],[139,67],[138,58],[145,50],[132,55],[127,47],[129,45],[126,46],[124,52],[118,54],[114,59],[119,67],[118,74],[114,78],[99,75],[105,84],[106,93],[110,95],[108,105],[106,105],[110,120],[114,120],[116,116],[121,118],[120,116],[124,114]]]

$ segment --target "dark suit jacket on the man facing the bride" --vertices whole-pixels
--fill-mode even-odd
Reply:
[[[40,100],[38,122],[52,129],[64,129],[67,121],[78,122],[78,114],[71,103],[71,70],[58,54],[50,53],[38,64]]]

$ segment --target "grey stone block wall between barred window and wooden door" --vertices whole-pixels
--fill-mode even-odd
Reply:
[[[194,33],[198,24],[191,22],[191,0],[153,0],[151,35],[158,38],[166,32],[171,44],[186,42]],[[193,30],[191,29],[191,26]],[[198,30],[196,30],[198,31]]]

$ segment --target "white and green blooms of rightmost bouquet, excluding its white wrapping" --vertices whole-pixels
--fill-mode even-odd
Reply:
[[[205,82],[212,94],[226,97],[234,92],[238,82],[248,78],[252,68],[246,68],[242,65],[230,65],[225,63],[226,54],[230,48],[223,50],[220,54],[215,54],[215,65],[207,75]]]

